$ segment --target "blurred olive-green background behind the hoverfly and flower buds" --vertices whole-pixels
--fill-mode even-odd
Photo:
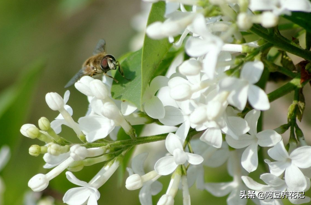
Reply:
[[[136,34],[131,19],[140,11],[140,3],[140,0],[0,0],[0,147],[8,144],[12,149],[11,160],[0,174],[6,185],[5,205],[22,205],[25,191],[30,191],[28,180],[37,173],[47,172],[42,168],[41,156],[28,154],[31,145],[42,143],[23,137],[19,133],[21,125],[37,125],[42,116],[51,121],[57,116],[58,113],[46,105],[45,94],[65,93],[64,85],[91,56],[100,38],[106,40],[108,53],[117,58],[129,51],[130,39]],[[69,90],[68,104],[77,120],[86,113],[88,103],[74,87]],[[285,123],[283,121],[286,116],[278,123]],[[63,130],[62,136],[69,139],[73,136],[72,130]],[[100,166],[86,167],[74,174],[88,181]],[[207,170],[209,182],[231,181],[225,166]],[[161,178],[164,185],[161,194],[166,191],[169,180],[169,177]],[[51,195],[55,204],[62,205],[62,197],[71,187],[75,185],[62,173],[50,182],[43,195]],[[212,197],[211,200],[207,191],[194,187],[190,191],[193,205],[225,204],[227,198]],[[139,190],[128,191],[118,186],[117,174],[100,192],[99,205],[139,204]],[[161,194],[154,197],[154,204]],[[181,203],[178,192],[175,204]]]

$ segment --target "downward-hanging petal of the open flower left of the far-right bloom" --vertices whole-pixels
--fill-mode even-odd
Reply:
[[[250,146],[248,146],[242,154],[241,164],[242,164],[242,167],[248,172],[255,171],[258,167],[257,150],[258,150],[258,144],[253,143]]]

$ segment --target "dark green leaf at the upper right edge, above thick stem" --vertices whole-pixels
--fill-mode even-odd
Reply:
[[[306,31],[311,32],[311,13],[305,12],[292,12],[291,16],[283,16],[285,19],[292,21],[295,24],[298,24]]]

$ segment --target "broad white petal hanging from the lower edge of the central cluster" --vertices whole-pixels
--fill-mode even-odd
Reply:
[[[223,143],[222,131],[218,128],[208,128],[200,137],[200,140],[215,148],[221,148]]]

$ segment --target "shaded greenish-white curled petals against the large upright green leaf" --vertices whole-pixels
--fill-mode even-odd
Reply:
[[[155,96],[155,93],[162,87],[168,86],[169,78],[165,76],[156,76],[147,85],[143,95],[142,103],[144,103],[145,112],[154,119],[161,119],[165,116],[165,109],[161,100]]]

